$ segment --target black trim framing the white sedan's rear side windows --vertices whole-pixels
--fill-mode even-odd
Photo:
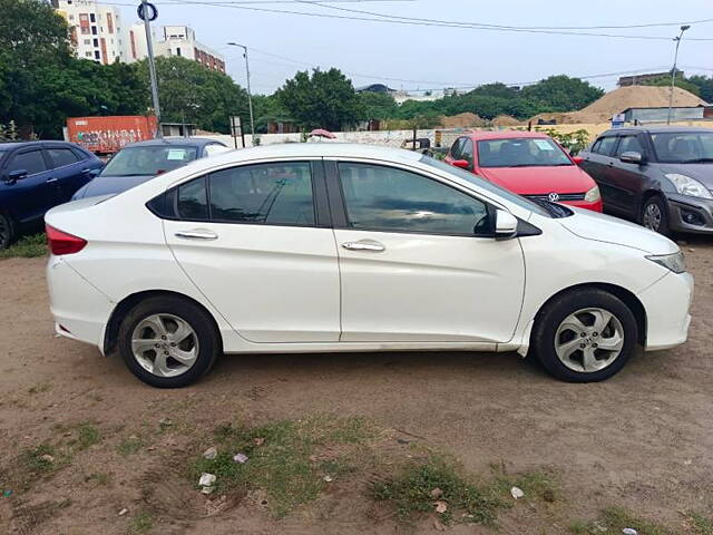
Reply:
[[[238,168],[238,167],[251,167],[251,166],[257,166],[257,165],[281,165],[281,164],[283,165],[284,164],[309,164],[310,165],[310,175],[311,175],[311,182],[312,182],[312,207],[314,210],[314,224],[311,224],[311,225],[306,225],[303,223],[272,224],[272,223],[242,222],[242,221],[213,218],[213,213],[211,207],[211,181],[209,181],[211,175],[215,173],[228,171],[228,169]],[[178,215],[178,189],[185,186],[186,184],[191,184],[192,182],[199,181],[199,179],[205,181],[206,201],[208,203],[208,206],[207,206],[208,217],[205,220],[180,217]],[[319,184],[320,182],[322,184]],[[157,201],[158,197],[162,197],[162,196],[164,197],[163,203],[165,203],[163,208],[160,210],[163,211],[163,213],[160,213],[159,210],[156,207],[157,204],[162,203],[160,201]],[[322,197],[321,201],[319,201],[320,197]],[[160,195],[156,195],[155,197],[150,198],[146,203],[146,207],[157,217],[160,217],[163,220],[177,221],[177,222],[211,223],[211,224],[219,224],[219,225],[229,224],[229,225],[251,225],[251,226],[331,228],[332,227],[331,214],[330,214],[329,204],[325,197],[326,196],[325,196],[325,185],[324,185],[323,160],[321,158],[320,159],[299,158],[299,159],[281,159],[281,160],[266,160],[266,162],[252,160],[252,162],[244,162],[238,165],[231,165],[227,167],[218,167],[215,169],[211,169],[207,173],[204,173],[198,176],[193,176],[187,181],[180,182],[179,184],[175,184],[170,186],[168,189],[166,189],[164,193],[162,193]]]

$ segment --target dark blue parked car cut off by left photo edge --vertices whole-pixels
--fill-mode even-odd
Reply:
[[[72,143],[0,143],[0,250],[41,224],[45,212],[69,201],[102,165]]]

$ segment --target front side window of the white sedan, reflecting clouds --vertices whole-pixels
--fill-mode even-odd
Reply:
[[[451,234],[490,234],[487,205],[426,176],[407,171],[340,163],[350,228]]]

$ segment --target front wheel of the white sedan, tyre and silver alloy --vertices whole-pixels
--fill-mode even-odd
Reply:
[[[604,290],[584,289],[565,293],[543,309],[530,347],[557,379],[595,382],[624,368],[637,340],[636,318],[621,299]]]

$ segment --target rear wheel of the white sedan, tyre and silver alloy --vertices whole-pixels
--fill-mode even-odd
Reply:
[[[134,307],[119,327],[118,346],[128,369],[157,388],[197,381],[223,350],[213,318],[177,296],[148,298]]]

